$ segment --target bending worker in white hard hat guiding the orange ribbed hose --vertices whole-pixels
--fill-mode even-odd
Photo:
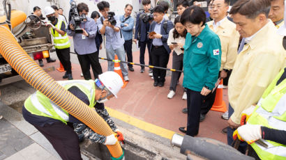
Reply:
[[[104,106],[96,105],[103,103],[117,93],[123,86],[123,81],[119,74],[115,72],[105,72],[93,80],[73,80],[58,81],[63,88],[70,91],[75,97],[79,98],[96,111],[110,125],[111,129],[116,132],[110,136],[100,136],[97,142],[104,145],[114,145],[116,141],[123,140],[123,135],[110,119]],[[76,107],[76,106],[75,106]],[[52,100],[45,95],[36,91],[30,95],[24,102],[22,114],[27,122],[31,123],[45,138],[52,144],[61,159],[82,159],[80,155],[79,138],[77,134],[86,133],[77,127],[77,134],[73,129],[73,124],[82,124],[80,120],[70,115],[67,111],[54,104]],[[90,138],[89,136],[86,136]],[[90,138],[92,140],[92,138]],[[95,140],[95,138],[93,138]]]

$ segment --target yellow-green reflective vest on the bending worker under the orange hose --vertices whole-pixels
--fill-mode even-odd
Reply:
[[[69,88],[76,86],[89,98],[89,107],[93,108],[96,104],[95,101],[95,83],[93,80],[71,80],[71,81],[57,81],[58,83],[68,90]],[[53,118],[56,120],[61,120],[61,122],[68,122],[68,112],[61,109],[60,106],[54,104],[52,100],[48,97],[36,91],[33,95],[30,95],[28,99],[24,102],[24,107],[30,113],[34,115],[40,115],[48,118]]]

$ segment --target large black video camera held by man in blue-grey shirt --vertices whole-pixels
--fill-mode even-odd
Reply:
[[[83,33],[82,28],[80,27],[80,22],[86,20],[86,15],[80,15],[77,12],[77,4],[75,1],[70,2],[70,14],[69,14],[70,24],[73,24],[75,27],[75,33]]]

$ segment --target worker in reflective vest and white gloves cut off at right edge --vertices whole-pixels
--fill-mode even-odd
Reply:
[[[255,159],[286,159],[285,78],[286,67],[264,91],[257,106],[243,111],[242,117],[246,116],[247,124],[234,131],[234,138],[238,137],[251,145],[248,155]]]

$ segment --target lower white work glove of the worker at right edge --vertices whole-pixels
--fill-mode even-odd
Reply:
[[[246,141],[249,145],[262,138],[261,125],[243,125],[237,128],[232,135],[234,140],[239,138],[240,141]]]

